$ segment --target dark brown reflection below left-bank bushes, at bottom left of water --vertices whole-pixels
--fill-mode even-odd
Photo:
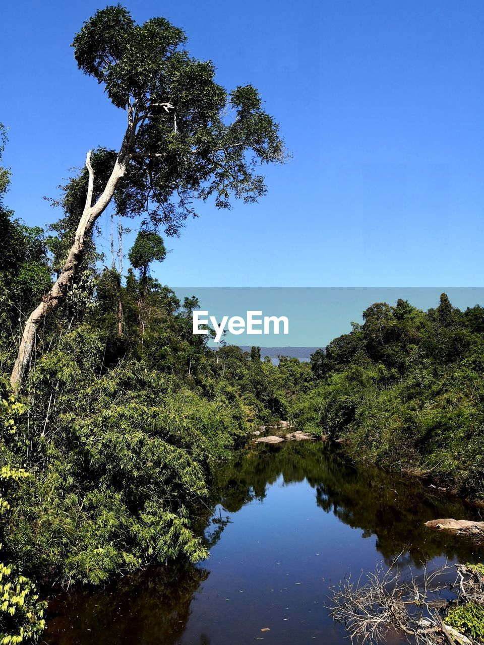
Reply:
[[[174,645],[187,626],[192,597],[207,577],[206,569],[195,566],[157,567],[107,588],[61,594],[50,602],[54,615],[44,642]],[[200,645],[209,643],[201,634]]]

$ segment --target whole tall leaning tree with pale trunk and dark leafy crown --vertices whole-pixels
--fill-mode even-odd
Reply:
[[[230,208],[231,196],[256,201],[266,192],[257,166],[284,160],[277,123],[257,90],[246,85],[227,92],[214,81],[210,61],[190,57],[186,40],[164,18],[136,25],[120,5],[97,11],[74,38],[79,68],[126,111],[126,130],[101,183],[94,155],[86,156],[77,230],[55,283],[26,321],[14,390],[30,365],[37,328],[65,300],[94,223],[110,203],[122,215],[146,212],[152,226],[176,235],[196,215],[196,200],[212,196],[218,208]]]

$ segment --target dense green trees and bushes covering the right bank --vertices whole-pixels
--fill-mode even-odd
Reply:
[[[363,319],[312,355],[316,381],[292,418],[358,459],[482,497],[484,309],[461,312],[443,293],[428,312],[399,300]]]

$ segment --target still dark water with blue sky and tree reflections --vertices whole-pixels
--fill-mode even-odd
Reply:
[[[416,479],[355,466],[325,442],[257,444],[221,468],[212,490],[199,520],[207,561],[59,595],[44,642],[343,644],[345,631],[325,605],[330,586],[348,574],[399,553],[414,571],[484,555],[423,526],[481,519],[478,510]]]

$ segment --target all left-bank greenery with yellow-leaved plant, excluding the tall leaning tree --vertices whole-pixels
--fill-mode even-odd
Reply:
[[[93,155],[97,177],[111,157],[102,149]],[[28,379],[12,396],[8,372],[23,323],[63,263],[86,172],[54,201],[64,214],[49,235],[5,208],[9,178],[0,169],[5,644],[37,638],[41,596],[53,584],[99,584],[150,563],[206,557],[193,519],[212,470],[255,424],[285,413],[283,383],[300,369],[288,362],[280,372],[239,348],[223,347],[216,356],[206,337],[194,336],[197,299],[181,303],[150,276],[150,264],[163,261],[166,250],[145,226],[125,276],[114,261],[103,268],[91,236],[63,306],[37,333]]]

